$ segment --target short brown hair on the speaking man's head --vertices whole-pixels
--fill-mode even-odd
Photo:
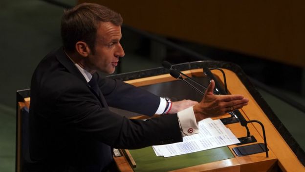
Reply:
[[[65,10],[61,23],[64,49],[74,51],[75,44],[84,41],[94,52],[96,31],[100,22],[122,25],[123,19],[120,14],[95,3],[81,3]]]

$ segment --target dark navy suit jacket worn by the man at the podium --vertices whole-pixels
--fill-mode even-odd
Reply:
[[[33,163],[28,169],[80,171],[77,168],[84,162],[80,152],[94,156],[86,149],[91,148],[86,146],[90,141],[102,145],[102,166],[111,160],[110,147],[136,149],[182,141],[176,114],[142,121],[108,109],[109,105],[151,116],[159,106],[159,97],[94,75],[102,93],[99,97],[63,48],[50,52],[39,63],[31,81],[29,152]]]

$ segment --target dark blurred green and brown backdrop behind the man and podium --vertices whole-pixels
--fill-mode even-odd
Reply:
[[[15,171],[16,91],[61,46],[66,7],[97,2],[124,19],[116,74],[172,64],[233,62],[305,149],[305,1],[1,0],[0,172]]]

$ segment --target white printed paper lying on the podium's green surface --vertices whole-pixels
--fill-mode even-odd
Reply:
[[[198,123],[199,133],[183,137],[183,142],[152,146],[157,156],[176,156],[240,143],[220,120],[204,119]]]

